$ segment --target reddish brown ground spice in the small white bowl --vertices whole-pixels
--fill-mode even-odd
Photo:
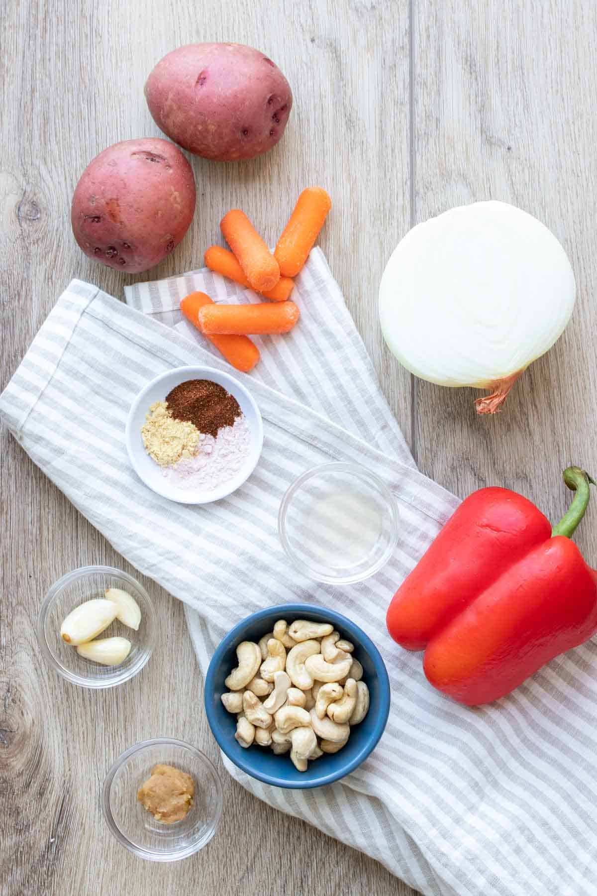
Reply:
[[[223,426],[233,426],[242,411],[223,386],[211,380],[187,380],[166,395],[168,409],[177,420],[189,420],[200,433],[216,438]]]

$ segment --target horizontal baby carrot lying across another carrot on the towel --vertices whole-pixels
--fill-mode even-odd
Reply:
[[[298,306],[291,301],[277,305],[208,305],[200,308],[199,325],[209,337],[214,333],[286,333],[299,314]]]

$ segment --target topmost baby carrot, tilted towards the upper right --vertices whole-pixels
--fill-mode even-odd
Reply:
[[[274,255],[285,277],[295,277],[307,261],[332,201],[320,186],[308,186],[299,196]]]

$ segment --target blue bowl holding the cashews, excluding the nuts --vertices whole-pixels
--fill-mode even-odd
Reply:
[[[242,641],[258,642],[271,632],[277,619],[286,619],[288,625],[294,619],[310,619],[330,622],[340,633],[354,643],[354,659],[362,665],[362,680],[369,688],[369,711],[360,725],[351,728],[348,743],[337,753],[325,754],[309,762],[307,771],[297,771],[290,754],[276,755],[269,746],[252,744],[244,749],[235,740],[236,716],[224,709],[220,697],[227,691],[224,679],[237,665],[236,647]],[[331,784],[363,762],[380,740],[388,721],[389,680],[380,651],[358,625],[350,619],[311,604],[280,604],[247,616],[226,634],[209,663],[205,679],[205,711],[209,727],[218,745],[231,762],[246,771],[252,778],[273,787],[306,789]]]

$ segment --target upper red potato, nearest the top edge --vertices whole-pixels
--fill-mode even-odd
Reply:
[[[189,44],[158,62],[145,84],[154,121],[185,150],[236,161],[284,134],[293,94],[271,59],[242,44]]]

